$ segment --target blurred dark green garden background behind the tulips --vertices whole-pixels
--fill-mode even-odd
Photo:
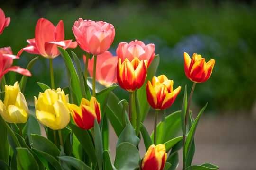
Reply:
[[[206,61],[216,60],[210,79],[196,85],[194,106],[201,108],[209,102],[208,112],[250,114],[256,102],[255,1],[9,0],[1,8],[11,22],[0,35],[0,47],[11,46],[14,54],[27,46],[27,39],[35,37],[39,18],[44,17],[54,25],[63,20],[65,39],[73,40],[72,26],[78,18],[102,20],[113,24],[116,30],[110,47],[113,54],[119,42],[138,39],[155,44],[155,53],[160,54],[156,75],[165,74],[173,79],[174,88],[182,86],[170,110],[181,108],[185,84],[188,92],[192,88],[184,73],[184,51],[191,57],[195,52]],[[84,51],[80,47],[73,51],[82,62]],[[23,52],[15,64],[25,68],[35,56]],[[64,61],[60,56],[53,61],[55,86],[64,88],[68,85]],[[40,57],[31,72],[25,97],[33,102],[33,96],[40,91],[36,82],[50,85],[48,59]],[[16,77],[20,80],[21,76]],[[115,91],[120,98],[128,98],[128,92],[120,88]]]

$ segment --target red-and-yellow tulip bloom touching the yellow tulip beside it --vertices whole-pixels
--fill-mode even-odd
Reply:
[[[75,124],[82,129],[89,130],[93,128],[94,119],[98,123],[101,121],[100,103],[93,96],[90,101],[82,98],[79,107],[75,104],[69,104],[69,109]]]

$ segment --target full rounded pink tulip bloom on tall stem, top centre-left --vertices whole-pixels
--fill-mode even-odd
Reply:
[[[94,55],[107,51],[115,37],[114,26],[103,21],[95,22],[79,18],[75,21],[72,30],[78,45]]]

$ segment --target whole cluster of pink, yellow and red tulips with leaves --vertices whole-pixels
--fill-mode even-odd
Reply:
[[[5,18],[3,11],[0,9],[0,34],[4,27],[9,25],[9,22],[10,18]],[[20,167],[21,169],[29,166],[33,167],[32,165],[26,165],[26,162],[19,162],[22,155],[25,157],[28,156],[30,159],[32,159],[32,157],[33,159],[35,158],[35,162],[31,161],[32,164],[36,164],[37,168],[35,169],[40,169],[42,164],[43,169],[70,169],[70,166],[73,166],[77,169],[84,168],[88,170],[133,170],[137,168],[141,170],[163,170],[164,168],[165,170],[174,170],[177,167],[177,162],[176,165],[172,162],[172,156],[176,156],[178,153],[176,153],[177,150],[175,151],[175,149],[172,148],[177,146],[179,142],[183,144],[183,170],[192,170],[193,166],[198,166],[191,165],[187,157],[191,152],[190,148],[194,147],[194,145],[192,145],[194,129],[197,126],[201,113],[198,118],[193,121],[192,115],[189,112],[189,105],[195,84],[205,82],[210,77],[215,60],[211,59],[206,63],[201,55],[194,54],[191,59],[189,55],[184,52],[185,74],[194,82],[190,99],[187,102],[185,90],[182,111],[170,114],[170,116],[178,115],[177,120],[180,124],[172,125],[168,122],[169,117],[165,118],[164,114],[162,122],[157,125],[158,110],[165,110],[174,103],[176,96],[181,91],[181,86],[174,89],[174,81],[169,80],[165,75],[157,77],[152,75],[153,78],[152,76],[147,77],[149,72],[152,72],[152,70],[150,70],[151,65],[155,64],[156,68],[158,65],[157,61],[155,61],[155,59],[159,59],[158,55],[155,55],[155,45],[145,45],[144,42],[138,40],[129,43],[121,42],[116,50],[117,56],[113,56],[107,51],[115,37],[115,29],[112,24],[79,18],[78,21],[75,21],[72,30],[76,42],[64,40],[63,21],[60,21],[57,26],[54,26],[47,19],[41,18],[37,21],[35,38],[28,39],[27,42],[29,45],[21,49],[18,55],[13,55],[10,47],[0,49],[0,80],[1,90],[4,91],[4,93],[1,93],[2,97],[4,96],[4,100],[3,102],[0,100],[0,118],[2,125],[5,126],[6,131],[8,130],[12,140],[17,146],[17,148],[12,147],[12,149],[17,149],[17,152],[13,150],[13,154],[17,155],[18,169],[20,169]],[[85,63],[84,72],[81,70],[77,56],[72,52],[77,66],[76,71],[70,56],[65,51],[67,48],[76,48],[77,44],[82,50],[86,51],[86,56],[83,56]],[[26,147],[28,146],[29,148],[27,150],[29,154],[21,154],[19,150],[20,147],[26,148],[22,146],[23,143],[21,142],[25,139],[23,139],[25,127],[22,129],[21,124],[26,123],[29,115],[32,114],[31,110],[29,111],[28,109],[23,93],[21,93],[21,90],[25,88],[25,77],[31,76],[31,73],[28,69],[12,66],[13,59],[18,59],[23,51],[41,55],[48,58],[50,62],[52,88],[40,83],[40,87],[44,90],[44,93],[40,92],[38,98],[35,97],[34,107],[36,118],[46,129],[46,135],[49,139],[49,142],[46,143],[55,143],[56,149],[59,152],[59,154],[56,154],[58,157],[55,157],[54,151],[50,151],[47,147],[40,147],[36,140],[40,137],[35,135],[31,135],[32,144],[28,143],[26,145]],[[65,94],[64,90],[60,88],[55,90],[52,60],[60,54],[68,68],[70,80],[68,93],[70,95]],[[92,58],[90,58],[90,54],[93,55]],[[31,67],[28,68],[31,69]],[[4,75],[9,71],[15,71],[24,75],[20,81],[21,86],[19,86],[18,82],[13,86],[6,85]],[[89,71],[92,77],[92,85],[91,79],[87,77],[87,71]],[[154,71],[155,70],[153,70],[153,72]],[[148,78],[152,78],[152,81],[150,82]],[[124,100],[118,100],[118,103],[113,102],[113,100],[117,98],[114,93],[111,92],[117,87],[115,83],[118,83],[122,89],[130,93],[129,103]],[[92,89],[92,96],[88,86]],[[96,93],[96,89],[98,89],[98,93]],[[141,95],[138,96],[137,93]],[[142,108],[142,102],[146,98],[148,103],[145,103],[143,105],[144,108]],[[118,113],[119,111],[117,111],[119,103],[123,103],[120,114]],[[127,116],[126,106],[128,104],[129,111]],[[146,117],[150,107],[149,105],[156,110],[155,129],[151,137],[143,126],[143,120]],[[143,118],[141,117],[141,112],[143,112]],[[70,119],[70,115],[73,119]],[[191,126],[189,126],[187,122],[188,118]],[[104,137],[104,132],[108,132],[108,126],[106,125],[108,124],[107,119],[110,120],[110,123],[119,137],[114,165],[110,161],[108,153],[109,147],[106,146],[108,145],[108,137],[107,139]],[[6,122],[10,123],[12,127],[14,124],[17,124],[19,135],[22,136],[22,138],[13,132],[14,130],[11,129]],[[163,135],[163,131],[169,130],[167,129],[167,125],[169,124],[170,126],[180,126],[179,129],[182,128],[183,136],[170,138],[170,135],[168,136],[167,133]],[[192,128],[193,126],[195,128]],[[189,133],[186,133],[186,128],[190,129]],[[49,135],[51,132],[50,129],[53,130],[54,140],[51,140],[51,136]],[[55,130],[58,130],[59,133],[61,152],[57,144],[58,139]],[[64,133],[65,130],[69,132],[69,135],[63,138],[62,133]],[[136,148],[140,141],[139,132],[141,132],[144,138],[147,150],[142,160],[139,158]],[[64,140],[66,138],[68,140]],[[167,140],[164,140],[164,138],[167,138]],[[48,139],[44,137],[40,139],[42,141],[48,141]],[[183,141],[181,141],[182,139]],[[74,140],[76,140],[78,144],[74,142]],[[80,148],[82,151],[77,151],[79,145],[82,147]],[[67,149],[70,147],[71,151]],[[170,154],[167,159],[167,153],[171,149],[173,154]],[[81,157],[78,152],[82,152],[83,156]],[[51,153],[54,154],[51,155]],[[9,159],[9,152],[6,154]],[[122,155],[121,157],[118,156],[120,154]],[[0,159],[1,156],[4,157],[6,155],[0,155]],[[37,160],[38,157],[40,159]],[[139,159],[137,159],[137,157]],[[59,159],[59,162],[57,161],[56,164],[56,162],[51,159]],[[9,167],[9,161],[3,160],[1,162],[3,162],[1,165]],[[10,161],[10,163],[12,163],[12,161]],[[49,164],[51,164],[51,166]],[[13,165],[11,164],[11,166]],[[218,167],[212,164],[203,164],[200,167],[205,168],[204,170],[207,170],[207,168],[211,170],[218,169]]]

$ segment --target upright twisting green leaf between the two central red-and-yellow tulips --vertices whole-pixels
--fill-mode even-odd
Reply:
[[[143,123],[146,119],[146,115],[148,113],[148,110],[150,109],[150,105],[148,104],[146,100],[146,83],[147,81],[151,81],[153,76],[155,76],[156,70],[158,68],[160,61],[159,54],[155,55],[155,58],[152,60],[151,64],[147,68],[147,76],[144,85],[140,89],[138,89],[138,100],[140,104],[140,110],[141,110],[141,122]]]

